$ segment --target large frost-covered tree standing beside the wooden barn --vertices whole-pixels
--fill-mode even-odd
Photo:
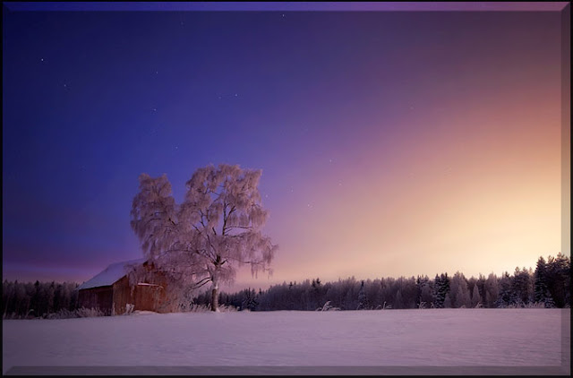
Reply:
[[[211,283],[211,310],[218,311],[218,288],[235,279],[236,269],[268,271],[278,245],[261,228],[261,170],[210,165],[187,181],[184,202],[175,203],[167,176],[140,176],[131,225],[146,258],[179,285]]]

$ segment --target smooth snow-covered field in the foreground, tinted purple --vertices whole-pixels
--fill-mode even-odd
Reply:
[[[569,309],[4,320],[3,374],[569,374],[569,321]]]

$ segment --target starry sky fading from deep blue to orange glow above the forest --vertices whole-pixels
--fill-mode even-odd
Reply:
[[[6,12],[3,276],[141,257],[142,173],[261,168],[284,280],[561,251],[557,12]],[[565,251],[569,253],[569,251]]]

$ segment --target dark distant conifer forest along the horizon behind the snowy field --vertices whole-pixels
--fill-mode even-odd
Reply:
[[[306,279],[274,285],[267,290],[253,288],[219,294],[219,304],[238,310],[379,310],[407,308],[516,308],[570,307],[571,261],[558,253],[547,261],[540,257],[535,271],[516,268],[512,275],[466,279],[457,272],[398,279],[338,279],[321,282]],[[77,310],[77,283],[21,283],[4,280],[3,319],[50,318]],[[193,299],[194,305],[208,305],[210,292]]]

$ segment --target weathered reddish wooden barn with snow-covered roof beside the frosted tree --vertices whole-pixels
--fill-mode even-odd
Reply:
[[[130,284],[128,273],[133,268],[147,271],[148,279]],[[130,307],[132,311],[167,313],[166,282],[160,273],[154,271],[153,264],[145,259],[116,262],[78,287],[78,304],[80,307],[97,308],[107,315],[125,314]]]

